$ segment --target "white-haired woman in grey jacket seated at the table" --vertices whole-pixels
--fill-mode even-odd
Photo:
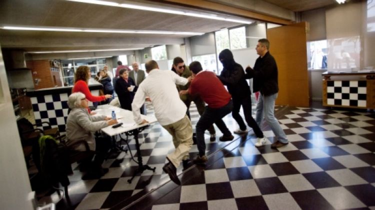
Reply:
[[[94,176],[101,177],[108,172],[108,169],[101,168],[101,164],[108,153],[111,142],[107,138],[95,138],[93,132],[116,124],[117,121],[106,116],[89,115],[88,100],[81,92],[72,93],[67,104],[71,111],[66,121],[66,144],[69,146],[79,140],[87,141],[90,150],[95,151],[91,172]],[[82,149],[84,149],[83,146],[75,148],[78,151]]]

